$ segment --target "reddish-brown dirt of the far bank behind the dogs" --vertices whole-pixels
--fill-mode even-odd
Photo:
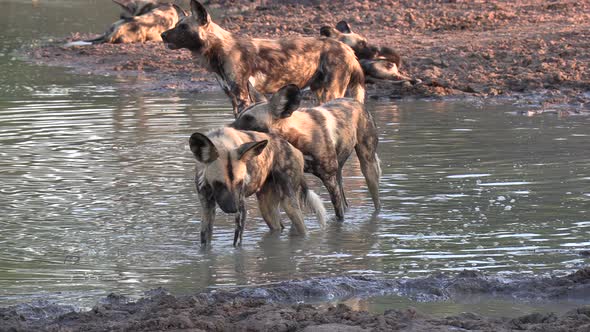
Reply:
[[[423,84],[369,84],[372,98],[534,95],[531,107],[590,110],[588,1],[210,1],[214,20],[237,34],[318,35],[344,19],[374,45],[403,57]],[[75,33],[67,40],[80,39]],[[138,75],[142,88],[218,89],[187,51],[161,43],[29,50],[33,61],[79,72]],[[540,102],[539,102],[540,100]]]

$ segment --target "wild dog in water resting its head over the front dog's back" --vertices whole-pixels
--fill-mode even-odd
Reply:
[[[379,201],[381,167],[377,156],[377,128],[363,104],[340,98],[313,108],[299,108],[301,92],[287,85],[269,102],[245,109],[232,124],[245,130],[276,133],[301,150],[306,171],[319,177],[334,205],[336,218],[344,219],[348,206],[342,186],[342,168],[354,149],[367,181],[375,209]]]

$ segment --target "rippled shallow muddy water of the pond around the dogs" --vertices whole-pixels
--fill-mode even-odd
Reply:
[[[243,247],[232,247],[233,218],[220,213],[212,248],[200,250],[187,141],[231,120],[225,96],[142,91],[140,78],[69,74],[15,52],[101,31],[117,13],[103,6],[0,4],[0,304],[88,306],[110,292],[337,275],[565,273],[588,263],[578,251],[590,247],[590,119],[515,116],[511,102],[371,101],[379,215],[353,158],[343,224],[320,230],[308,215],[306,238],[271,235],[249,200]]]

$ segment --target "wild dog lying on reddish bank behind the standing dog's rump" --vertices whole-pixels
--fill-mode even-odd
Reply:
[[[336,28],[324,26],[320,29],[320,35],[333,38],[350,46],[359,59],[365,79],[412,81],[408,76],[399,72],[401,57],[389,47],[369,46],[367,39],[358,33],[352,32],[346,21],[340,21]]]

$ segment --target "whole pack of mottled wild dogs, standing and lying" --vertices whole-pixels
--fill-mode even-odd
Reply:
[[[344,221],[342,170],[353,150],[380,210],[377,126],[364,107],[365,81],[410,80],[399,73],[395,51],[370,46],[345,21],[317,36],[249,38],[217,25],[196,0],[190,13],[168,3],[114,1],[123,8],[120,20],[104,35],[73,45],[162,40],[171,50],[188,49],[231,101],[232,123],[189,139],[198,161],[202,245],[211,243],[217,206],[235,214],[233,243],[241,244],[251,195],[271,230],[284,228],[280,209],[297,234],[306,233],[304,207],[325,225],[326,210],[304,173],[322,181],[336,220]],[[302,105],[307,88],[316,106]]]

